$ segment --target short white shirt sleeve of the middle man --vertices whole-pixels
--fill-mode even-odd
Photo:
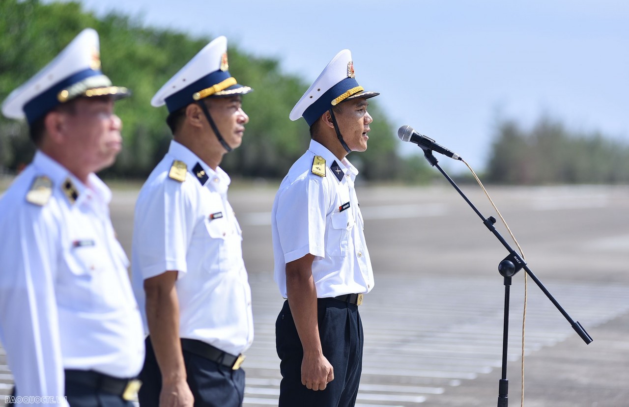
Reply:
[[[191,182],[187,180],[186,182]],[[186,252],[194,228],[194,210],[186,192],[191,188],[165,179],[143,190],[135,207],[134,264],[147,279],[169,270],[186,273]]]

